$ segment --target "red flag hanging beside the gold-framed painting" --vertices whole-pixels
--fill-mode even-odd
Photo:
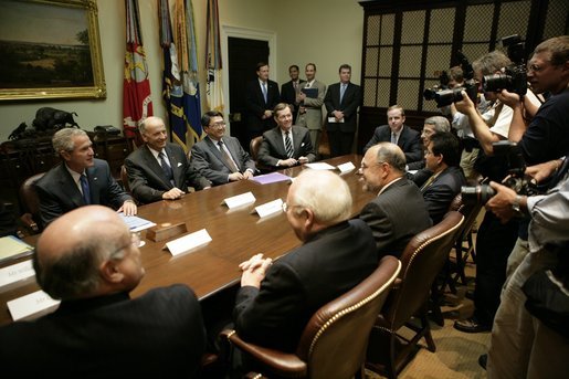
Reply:
[[[125,137],[134,139],[137,146],[143,144],[138,124],[152,115],[150,82],[146,53],[140,34],[138,1],[125,0],[126,9],[126,54],[125,80],[123,85],[123,128]]]

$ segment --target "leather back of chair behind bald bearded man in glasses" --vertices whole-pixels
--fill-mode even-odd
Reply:
[[[401,255],[401,283],[386,304],[382,315],[391,330],[402,327],[426,305],[431,285],[441,272],[464,217],[456,211],[417,234]]]

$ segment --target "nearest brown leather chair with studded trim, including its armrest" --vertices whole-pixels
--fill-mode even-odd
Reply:
[[[396,257],[386,256],[370,276],[320,307],[294,354],[249,344],[234,330],[223,330],[222,337],[253,357],[271,378],[363,378],[369,331],[400,269]]]

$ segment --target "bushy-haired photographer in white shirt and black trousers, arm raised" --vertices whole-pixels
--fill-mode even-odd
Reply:
[[[512,61],[502,52],[493,51],[473,62],[474,76],[480,83],[484,75],[500,73]],[[503,156],[493,154],[493,143],[508,137],[513,109],[497,99],[496,93],[484,93],[492,106],[481,114],[463,92],[456,109],[468,118],[470,126],[480,141],[483,152],[476,161],[476,169],[484,177],[500,182],[508,173],[508,162]],[[529,94],[528,99],[539,101]],[[499,305],[499,294],[506,281],[506,264],[518,235],[518,221],[500,222],[492,212],[486,212],[476,234],[476,282],[474,289],[474,314],[471,318],[456,320],[454,327],[465,333],[488,331]]]

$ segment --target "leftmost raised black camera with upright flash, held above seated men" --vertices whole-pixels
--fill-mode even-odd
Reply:
[[[423,92],[424,99],[434,99],[436,102],[436,107],[439,108],[462,101],[462,91],[465,91],[474,103],[476,102],[478,84],[474,80],[474,70],[472,70],[472,64],[468,62],[466,55],[464,55],[461,51],[456,52],[456,56],[461,62],[460,65],[464,73],[464,85],[449,90],[441,90],[440,87],[434,86],[432,88],[426,88]]]

